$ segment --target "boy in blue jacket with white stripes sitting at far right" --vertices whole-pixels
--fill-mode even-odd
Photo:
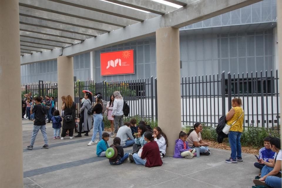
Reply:
[[[268,137],[265,137],[263,140],[264,140],[264,147],[261,148],[259,150],[259,158],[260,159],[263,159],[264,161],[266,162],[271,162],[269,160],[273,160],[274,159],[274,155],[275,155],[275,152],[273,152],[271,149],[270,149],[270,139],[271,137],[268,136]],[[259,161],[259,160],[258,160]],[[262,169],[264,164],[259,164],[258,162],[255,162],[254,163],[254,166],[259,168],[259,169]]]

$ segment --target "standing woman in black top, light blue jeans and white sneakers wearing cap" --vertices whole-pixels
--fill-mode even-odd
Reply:
[[[102,140],[102,121],[103,121],[103,102],[102,102],[102,95],[98,94],[96,96],[96,103],[92,109],[94,123],[93,123],[93,135],[91,141],[87,144],[88,146],[94,145],[95,143],[98,143],[100,140]],[[95,141],[97,132],[99,132],[99,140]]]

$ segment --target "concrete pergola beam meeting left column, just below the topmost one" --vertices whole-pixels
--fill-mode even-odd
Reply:
[[[74,18],[70,16],[52,13],[52,12],[31,9],[23,6],[19,7],[19,14],[20,16],[38,18],[42,20],[53,21],[61,24],[68,24],[71,26],[84,27],[84,28],[103,31],[103,32],[109,32],[120,28],[109,24],[103,24],[89,20],[86,21],[85,19]]]

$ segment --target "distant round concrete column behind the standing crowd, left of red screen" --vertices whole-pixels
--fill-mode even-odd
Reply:
[[[74,100],[73,57],[59,56],[58,63],[58,110],[61,113],[63,95],[70,95]]]

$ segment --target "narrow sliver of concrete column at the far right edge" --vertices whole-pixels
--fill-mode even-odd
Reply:
[[[280,117],[281,117],[281,109],[282,109],[282,87],[281,87],[281,78],[282,78],[282,1],[277,1],[277,5],[276,5],[276,9],[277,9],[277,38],[278,38],[278,62],[276,63],[278,65],[278,77],[280,78],[278,80],[278,89],[279,89],[279,93],[280,93],[280,108],[279,108],[279,112],[280,112]],[[282,129],[281,129],[281,118],[280,118],[280,135],[282,135]],[[281,137],[280,137],[281,139]],[[282,139],[281,141],[281,145],[282,145]],[[281,164],[282,166],[282,164]]]

